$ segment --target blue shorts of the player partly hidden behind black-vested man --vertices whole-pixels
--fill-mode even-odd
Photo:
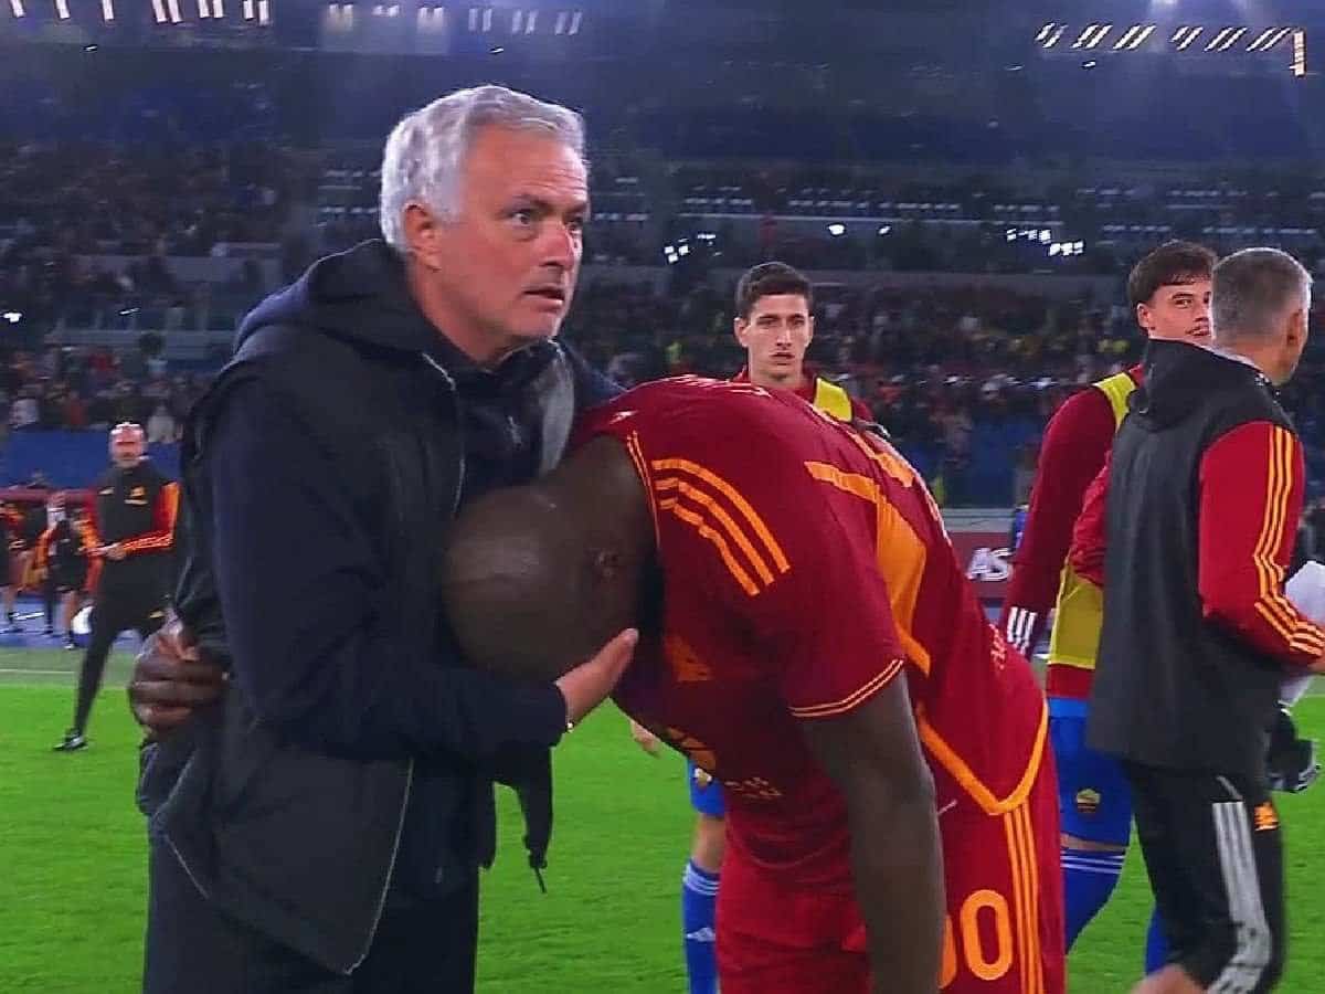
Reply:
[[[1049,741],[1059,770],[1063,831],[1106,846],[1132,838],[1132,790],[1122,765],[1085,744],[1085,701],[1049,698]]]

